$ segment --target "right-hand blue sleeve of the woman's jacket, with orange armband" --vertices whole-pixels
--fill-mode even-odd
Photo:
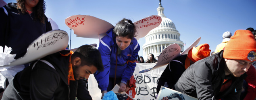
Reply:
[[[130,58],[130,61],[136,60],[136,58],[138,57],[138,52],[140,50],[140,46],[138,43],[136,44],[134,49],[135,50],[133,50],[133,54]],[[136,62],[133,62],[133,63],[128,62],[128,66],[125,68],[125,71],[123,72],[123,74],[121,76],[121,78],[122,78],[121,82],[123,81],[123,82],[127,83],[128,80],[130,80],[130,78],[133,75],[133,72],[135,70],[135,67],[136,67]]]

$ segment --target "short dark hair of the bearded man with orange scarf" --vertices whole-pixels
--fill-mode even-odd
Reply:
[[[103,71],[104,67],[100,51],[91,45],[80,46],[72,55],[72,58],[81,58],[81,65],[91,66],[94,65],[98,71]]]

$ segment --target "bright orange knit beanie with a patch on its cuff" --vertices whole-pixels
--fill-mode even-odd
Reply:
[[[237,30],[225,46],[223,58],[256,60],[256,40],[250,30]]]

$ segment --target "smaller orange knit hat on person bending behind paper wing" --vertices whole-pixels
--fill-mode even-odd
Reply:
[[[211,50],[209,44],[201,44],[197,47],[193,47],[188,52],[188,58],[193,62],[204,59],[210,56]]]

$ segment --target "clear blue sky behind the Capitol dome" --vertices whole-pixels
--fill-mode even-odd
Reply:
[[[6,3],[16,0],[4,0]],[[133,22],[157,15],[159,0],[45,0],[46,16],[60,30],[69,34],[65,19],[73,15],[90,15],[110,22],[113,26],[128,18]],[[190,46],[201,37],[199,44],[208,43],[212,51],[222,42],[222,34],[252,27],[256,29],[256,0],[162,0],[164,15],[171,19],[181,34],[180,39]],[[143,55],[145,38],[138,40]],[[98,39],[81,38],[71,33],[71,49],[84,44],[99,44]],[[70,44],[69,44],[70,45]],[[144,56],[144,59],[147,57]]]

